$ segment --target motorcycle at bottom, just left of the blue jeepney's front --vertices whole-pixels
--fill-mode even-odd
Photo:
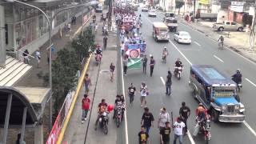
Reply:
[[[211,134],[210,134],[210,117],[206,118],[204,122],[199,123],[198,119],[196,119],[196,124],[194,126],[193,136],[197,136],[198,133],[203,134],[206,144],[209,143]]]

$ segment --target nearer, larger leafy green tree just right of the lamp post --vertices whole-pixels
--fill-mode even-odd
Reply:
[[[74,80],[76,79],[76,74],[79,68],[80,62],[78,61],[77,54],[73,49],[64,48],[58,51],[58,57],[52,63],[55,113],[57,113],[58,108],[62,106],[69,90],[74,89]]]

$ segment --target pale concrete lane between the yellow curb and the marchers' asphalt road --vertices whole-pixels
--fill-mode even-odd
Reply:
[[[99,17],[97,17],[98,20]],[[118,130],[115,122],[112,119],[113,111],[109,114],[109,125],[108,134],[104,134],[102,129],[98,127],[98,130],[94,130],[94,123],[98,117],[98,103],[101,102],[102,98],[106,99],[108,104],[114,104],[115,96],[117,94],[117,71],[120,69],[116,65],[117,63],[117,47],[116,40],[117,36],[114,32],[109,32],[108,42],[106,50],[103,51],[102,63],[100,66],[96,66],[94,56],[90,60],[89,74],[92,82],[90,86],[89,98],[91,100],[91,109],[87,116],[87,121],[83,124],[82,119],[82,98],[84,94],[84,88],[80,92],[77,102],[74,106],[74,111],[70,117],[69,126],[67,126],[66,132],[64,134],[64,139],[62,142],[66,144],[96,144],[96,143],[106,143],[114,144],[117,142]],[[101,46],[102,42],[102,23],[98,22],[98,33],[96,34],[95,41]],[[114,82],[110,82],[110,62],[114,62],[116,66]],[[85,142],[86,141],[86,142]]]

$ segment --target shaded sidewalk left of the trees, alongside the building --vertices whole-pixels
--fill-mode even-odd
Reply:
[[[62,29],[62,38],[60,38],[60,34],[57,33],[52,37],[52,43],[54,44],[54,52],[52,52],[52,58],[56,58],[58,50],[63,49],[65,46],[67,46],[68,42],[71,42],[71,38],[73,38],[75,32],[78,30],[79,27],[82,25],[82,16],[79,16],[76,20],[75,25],[71,25],[70,31],[64,31]],[[71,19],[70,19],[71,21]],[[86,26],[88,26],[90,23],[87,22]],[[43,46],[39,48],[39,51],[41,53],[41,62],[39,64],[39,68],[37,67],[37,61],[36,59],[31,60],[32,70],[30,70],[30,73],[26,74],[25,77],[21,78],[17,83],[14,84],[14,86],[28,86],[28,87],[46,87],[44,86],[43,80],[38,78],[38,75],[40,72],[42,74],[49,73],[49,65],[47,63],[47,52],[46,48],[49,46],[49,43],[46,42]],[[34,56],[34,54],[32,54]]]

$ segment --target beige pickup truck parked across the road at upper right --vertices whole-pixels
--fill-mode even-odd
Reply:
[[[223,31],[223,30],[238,30],[242,31],[243,26],[237,22],[225,21],[223,23],[214,23],[214,30]]]

